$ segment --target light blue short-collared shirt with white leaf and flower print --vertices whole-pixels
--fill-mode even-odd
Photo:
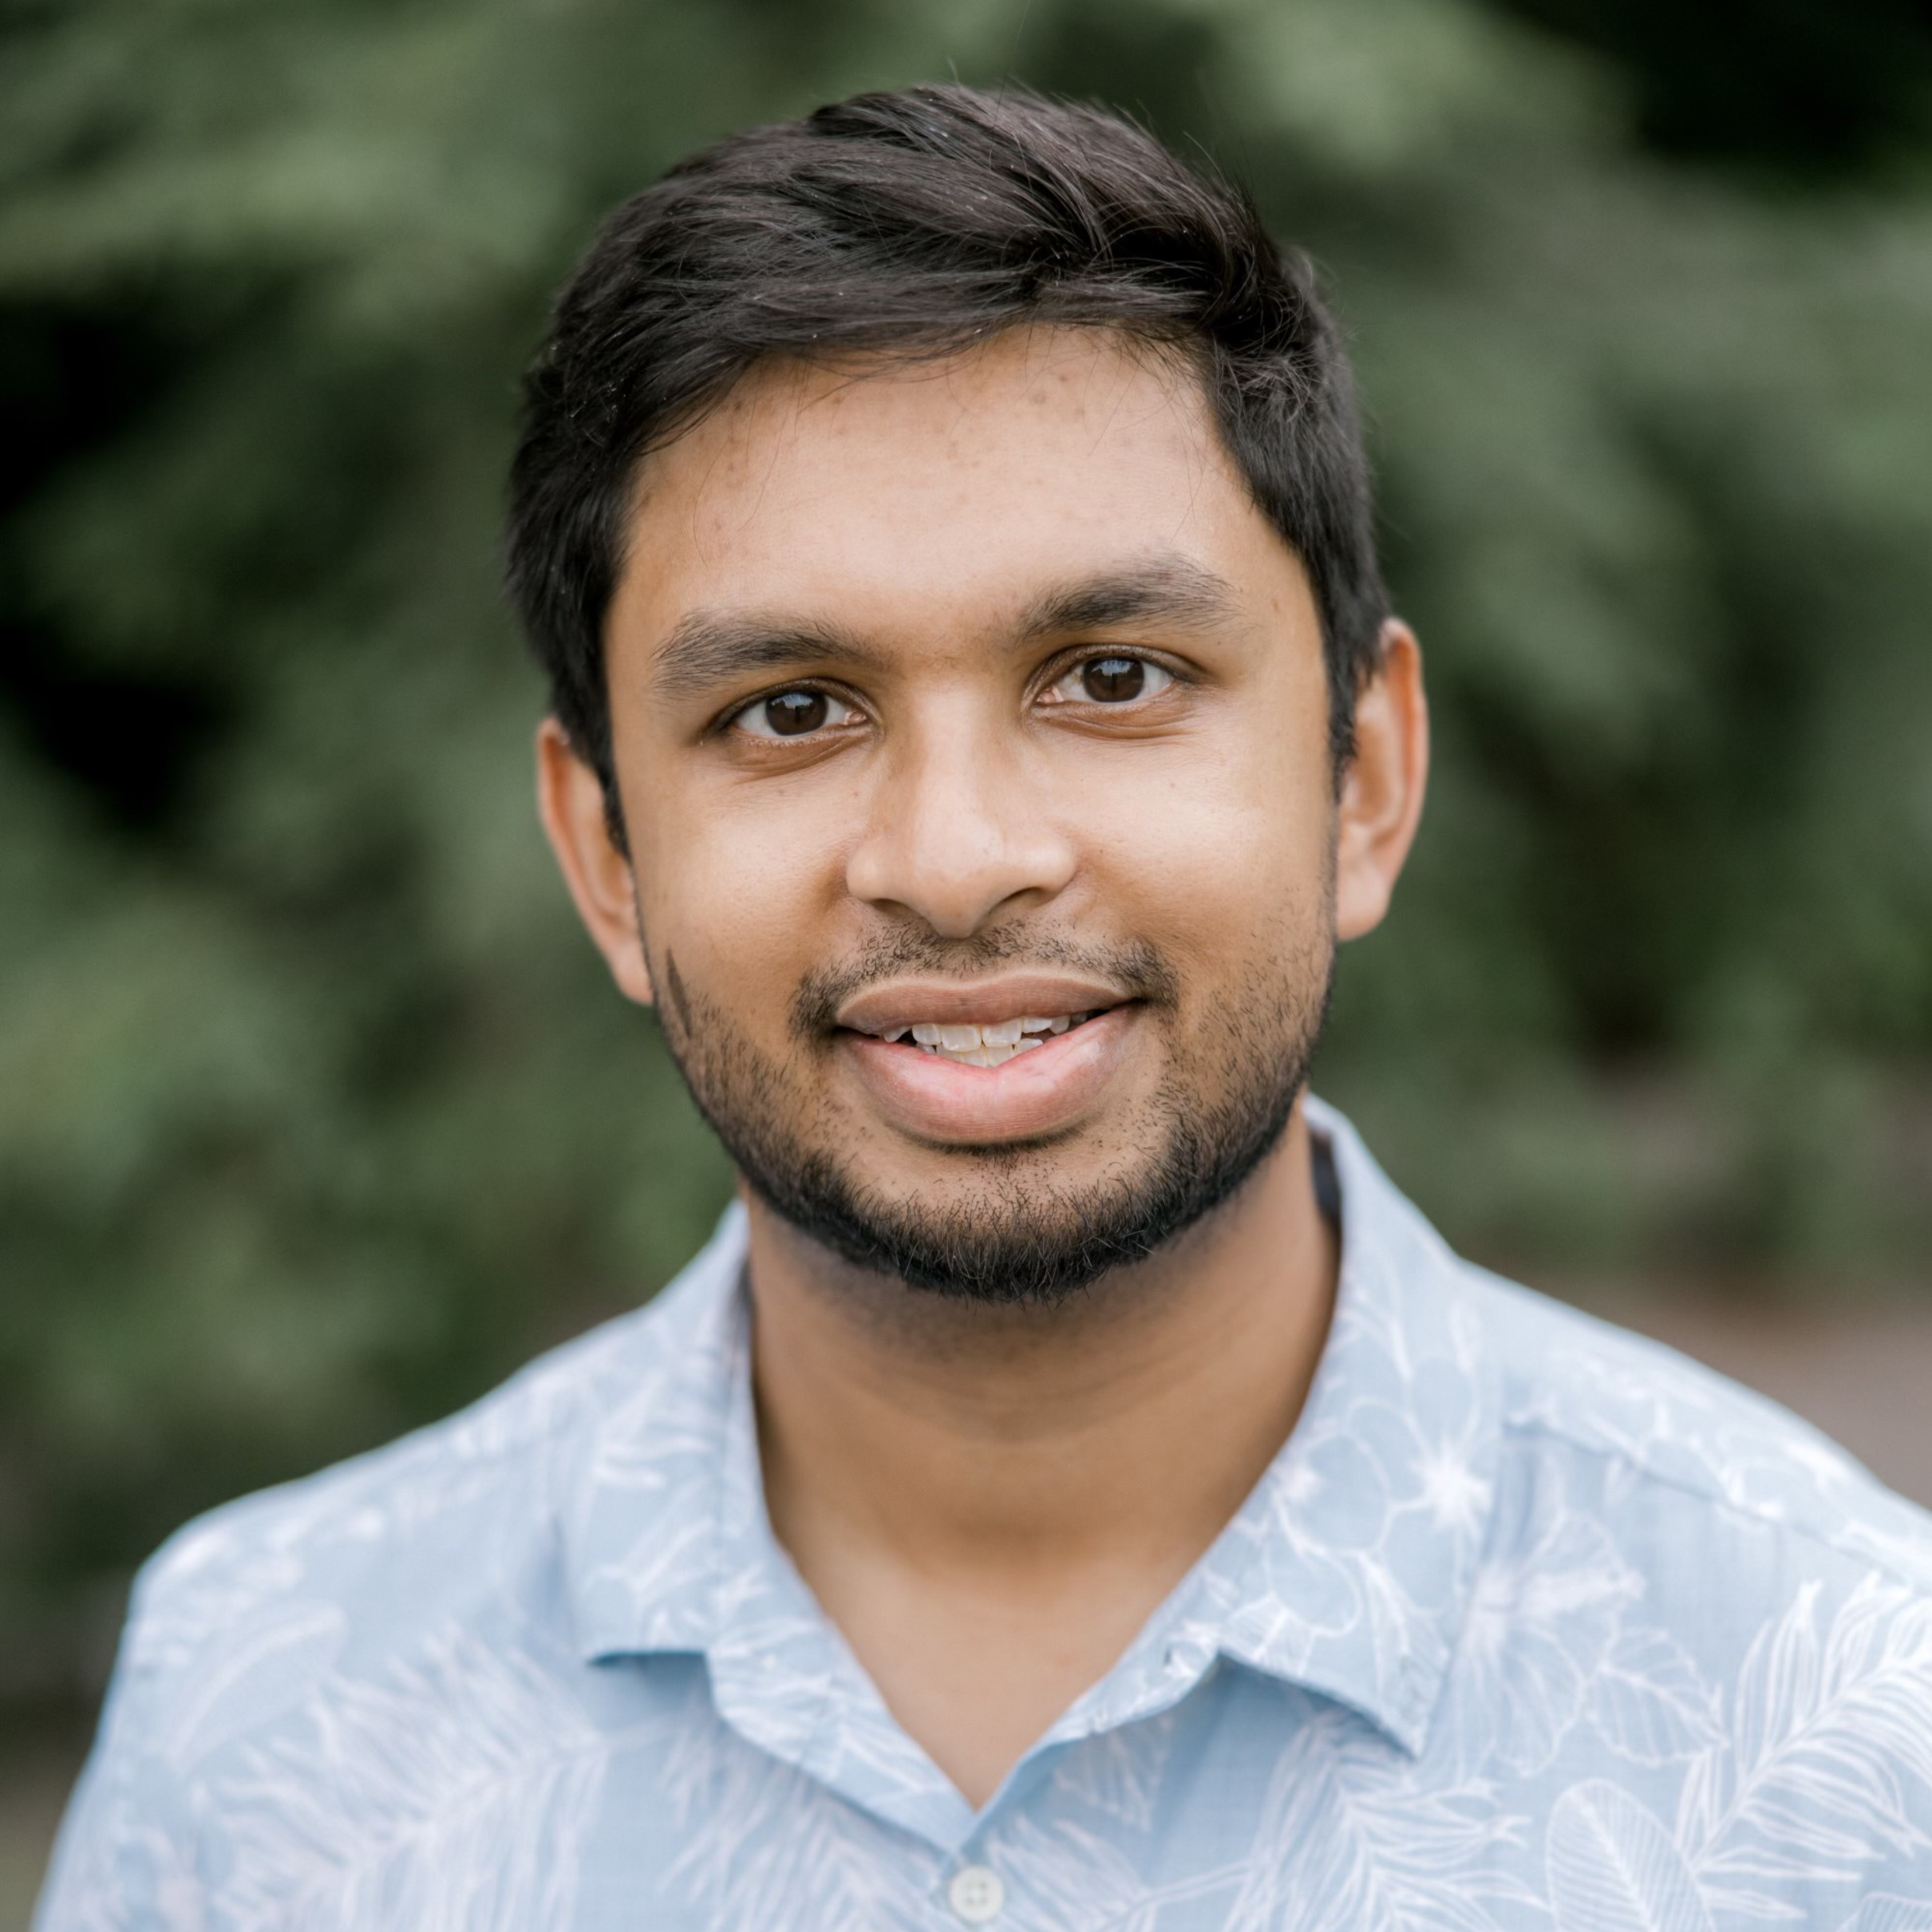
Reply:
[[[43,1932],[1932,1932],[1932,1522],[1310,1113],[1306,1410],[983,1810],[773,1540],[734,1211],[155,1557]]]

